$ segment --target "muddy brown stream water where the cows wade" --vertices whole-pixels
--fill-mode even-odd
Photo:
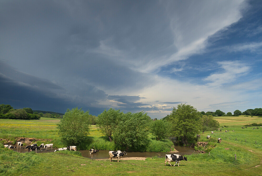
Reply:
[[[175,146],[175,149],[179,152],[176,152],[174,154],[179,154],[179,155],[191,155],[194,153],[194,148],[190,148],[190,147],[183,147],[183,146]],[[14,149],[15,151],[18,152],[27,152],[28,149]],[[37,150],[37,153],[45,153],[45,152],[54,152],[54,149],[51,150],[50,148],[47,149],[47,151],[43,150],[43,151],[39,151]],[[107,159],[109,158],[109,154],[108,152],[110,150],[99,150],[99,152],[94,153],[94,154],[89,154],[89,150],[79,150],[82,153],[83,157],[89,158],[89,159]],[[132,152],[132,151],[127,151],[127,155],[125,155],[125,157],[153,157],[153,156],[157,156],[157,157],[164,157],[166,154],[173,154],[171,152]]]

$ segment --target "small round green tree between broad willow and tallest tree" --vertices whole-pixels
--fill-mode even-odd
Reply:
[[[170,126],[165,120],[155,120],[151,123],[151,132],[156,140],[165,139],[170,135]]]

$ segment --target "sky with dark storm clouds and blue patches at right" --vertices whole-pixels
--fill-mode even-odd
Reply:
[[[0,1],[0,104],[262,107],[261,1]]]

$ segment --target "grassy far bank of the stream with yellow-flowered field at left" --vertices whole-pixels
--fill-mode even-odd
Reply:
[[[59,119],[41,118],[40,120],[14,120],[0,119],[0,138],[13,141],[15,144],[18,137],[43,139],[34,143],[53,143],[55,148],[64,147],[65,144],[58,136],[56,124]],[[170,140],[156,141],[150,135],[145,151],[149,152],[169,152],[173,148],[173,143]],[[117,147],[113,142],[110,142],[106,136],[99,132],[95,125],[91,125],[90,134],[86,142],[77,146],[79,150],[89,150],[96,148],[98,150],[116,150]]]

